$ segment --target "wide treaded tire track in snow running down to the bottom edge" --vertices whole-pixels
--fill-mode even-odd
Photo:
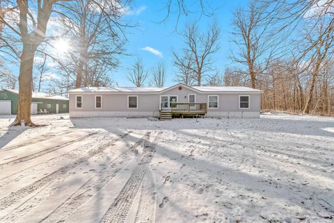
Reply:
[[[162,132],[159,132],[152,143],[147,143],[145,145],[141,162],[139,162],[138,166],[134,169],[134,172],[127,180],[127,183],[125,183],[125,186],[120,191],[120,194],[118,194],[115,201],[113,201],[109,209],[104,214],[100,223],[125,222],[136,194],[141,187],[148,165],[153,158],[155,147],[157,146],[157,142],[159,141],[161,134]]]

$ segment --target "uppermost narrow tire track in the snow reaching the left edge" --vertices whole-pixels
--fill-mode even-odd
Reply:
[[[57,146],[52,146],[52,147],[50,147],[50,148],[47,148],[47,149],[45,149],[45,150],[43,150],[43,151],[39,151],[39,152],[37,152],[37,153],[33,153],[33,154],[31,154],[31,155],[26,155],[26,156],[24,156],[24,157],[20,157],[20,158],[18,158],[18,159],[16,159],[16,160],[11,160],[11,161],[9,161],[9,162],[5,162],[5,163],[3,163],[3,164],[0,164],[0,167],[1,167],[1,169],[3,169],[3,167],[6,167],[6,166],[13,166],[13,165],[18,164],[18,163],[20,163],[20,162],[25,162],[25,161],[28,161],[28,160],[32,160],[32,159],[34,159],[35,157],[39,157],[39,156],[41,156],[41,155],[45,155],[45,154],[47,154],[47,153],[51,153],[51,152],[56,151],[56,150],[58,150],[58,149],[60,149],[60,148],[63,148],[63,147],[65,147],[65,146],[68,146],[68,145],[70,145],[70,144],[72,144],[72,143],[74,143],[74,142],[76,142],[76,141],[81,141],[82,139],[86,139],[86,137],[90,137],[90,136],[92,136],[93,134],[96,134],[96,132],[86,134],[84,137],[79,137],[79,138],[77,138],[77,139],[72,139],[72,140],[70,140],[70,141],[66,141],[66,142],[63,143],[63,144],[59,144],[59,145],[57,145]]]

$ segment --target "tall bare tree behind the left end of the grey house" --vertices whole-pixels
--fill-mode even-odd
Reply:
[[[118,66],[117,56],[124,54],[124,32],[129,26],[123,19],[125,7],[120,0],[77,0],[66,8],[61,24],[72,47],[69,60],[62,61],[66,66],[61,68],[75,76],[76,88],[96,85],[98,82],[91,81],[100,74],[93,71],[103,70],[105,75]]]

